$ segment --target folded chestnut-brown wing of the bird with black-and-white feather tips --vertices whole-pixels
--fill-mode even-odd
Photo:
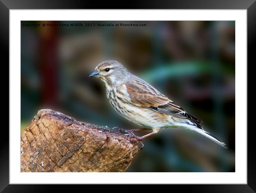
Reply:
[[[145,107],[153,111],[172,115],[174,117],[195,120],[198,123],[202,121],[192,115],[189,115],[181,107],[168,99],[153,86],[142,79],[130,80],[125,83],[127,93],[131,98],[131,103],[140,107]]]

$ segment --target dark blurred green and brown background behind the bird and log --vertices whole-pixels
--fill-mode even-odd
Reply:
[[[109,22],[146,26],[42,26]],[[140,128],[112,109],[99,80],[88,78],[110,59],[228,145],[181,128],[161,130],[144,140],[127,172],[235,172],[235,21],[21,21],[21,132],[43,108],[100,126]]]

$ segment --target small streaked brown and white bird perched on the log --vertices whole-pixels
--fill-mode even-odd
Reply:
[[[203,129],[202,120],[188,114],[152,85],[130,73],[118,61],[106,60],[99,63],[89,77],[98,78],[104,83],[107,99],[118,114],[142,126],[127,131],[141,142],[141,149],[144,147],[142,139],[161,129],[173,127],[193,130],[227,148],[225,143]],[[152,132],[141,137],[134,134],[148,129]]]

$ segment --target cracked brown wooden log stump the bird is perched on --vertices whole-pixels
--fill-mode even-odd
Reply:
[[[42,109],[21,135],[21,172],[123,172],[137,142],[122,129]]]

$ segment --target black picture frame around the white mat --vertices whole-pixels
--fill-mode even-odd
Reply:
[[[123,2],[124,3],[124,2]],[[123,4],[124,5],[124,4]],[[117,4],[117,1],[80,1],[80,0],[0,0],[0,39],[1,39],[1,66],[9,71],[9,10],[10,9],[246,9],[247,10],[247,63],[256,64],[256,2],[255,0],[141,0],[127,1],[126,7]],[[236,37],[239,38],[239,37]],[[8,67],[7,67],[8,66]],[[247,65],[248,66],[248,65]],[[245,66],[246,68],[246,66]],[[6,81],[6,80],[5,80]],[[254,82],[254,81],[253,81]],[[252,82],[252,83],[253,83]],[[3,81],[2,81],[3,83]],[[251,83],[248,81],[248,83]],[[249,87],[250,88],[250,87]],[[253,88],[253,87],[252,87]],[[8,88],[9,90],[9,88]],[[5,90],[5,95],[9,91]],[[10,96],[9,96],[10,97]],[[3,102],[3,100],[2,100]],[[247,113],[247,112],[244,112]],[[7,113],[6,113],[7,114]],[[249,115],[249,114],[248,114]],[[240,129],[240,128],[238,128]],[[242,128],[241,128],[242,129]],[[256,157],[255,157],[255,128],[247,130],[247,184],[220,184],[220,185],[172,185],[179,191],[189,189],[190,192],[256,192]],[[0,191],[3,192],[58,192],[68,190],[67,185],[10,185],[9,184],[9,131],[1,130],[0,148]],[[5,137],[3,137],[5,136]],[[101,183],[101,182],[99,182]],[[114,182],[113,182],[114,183]],[[102,187],[101,186],[98,186]],[[114,188],[118,189],[118,188]],[[124,190],[132,191],[132,187]],[[72,189],[74,190],[74,189]],[[112,189],[113,190],[113,189]],[[120,190],[120,189],[119,189]],[[171,190],[170,190],[171,191]]]

